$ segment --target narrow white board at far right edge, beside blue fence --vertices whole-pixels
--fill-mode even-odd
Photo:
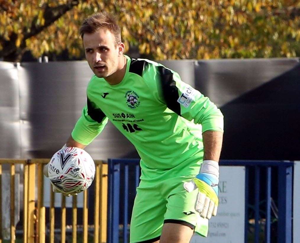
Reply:
[[[294,161],[293,241],[300,239],[300,161]]]

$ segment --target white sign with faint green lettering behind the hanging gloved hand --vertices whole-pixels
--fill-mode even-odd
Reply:
[[[208,237],[193,235],[190,243],[241,243],[245,225],[245,167],[220,166],[217,216],[209,220]]]

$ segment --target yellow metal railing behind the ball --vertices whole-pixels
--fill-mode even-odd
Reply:
[[[49,242],[55,242],[55,193],[52,188],[50,192],[49,205],[49,229],[46,229],[46,207],[44,206],[44,175],[43,168],[49,159],[0,159],[0,202],[2,202],[2,165],[10,165],[10,242],[16,240],[15,227],[15,165],[23,165],[23,242],[33,243],[46,241],[46,234],[49,232]],[[102,161],[95,161],[95,189],[94,198],[94,241],[95,243],[106,242],[107,239],[107,173],[108,166]],[[37,185],[36,185],[37,174]],[[37,188],[38,195],[35,195]],[[0,243],[2,242],[2,203],[0,203]],[[69,215],[68,215],[69,216]],[[72,242],[77,241],[77,196],[72,197]],[[61,237],[60,242],[66,241],[66,197],[61,196]],[[82,208],[82,242],[88,242],[88,191],[83,192]]]

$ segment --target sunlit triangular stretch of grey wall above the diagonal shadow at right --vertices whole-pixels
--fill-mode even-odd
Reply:
[[[292,69],[298,58],[196,61],[196,88],[219,107]]]

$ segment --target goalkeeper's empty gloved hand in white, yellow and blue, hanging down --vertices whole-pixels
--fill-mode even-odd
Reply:
[[[216,161],[204,160],[200,173],[191,181],[185,182],[183,187],[188,192],[199,189],[195,210],[203,218],[210,219],[217,215],[219,184],[219,164]]]

